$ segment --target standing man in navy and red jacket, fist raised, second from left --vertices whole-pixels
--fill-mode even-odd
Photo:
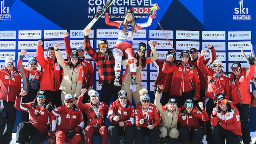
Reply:
[[[21,50],[19,59],[17,60],[17,67],[23,78],[23,90],[28,92],[28,95],[22,99],[22,103],[32,102],[36,98],[36,93],[40,88],[40,81],[42,80],[42,73],[37,70],[37,60],[32,57],[28,60],[28,68],[25,69],[22,62],[23,56],[27,53],[26,50]],[[21,111],[22,122],[29,122],[28,112]]]

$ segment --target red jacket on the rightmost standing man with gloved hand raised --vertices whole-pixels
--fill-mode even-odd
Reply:
[[[250,80],[254,76],[255,65],[249,65],[249,69],[242,68],[241,73],[236,76],[230,75],[230,100],[234,104],[251,104]]]

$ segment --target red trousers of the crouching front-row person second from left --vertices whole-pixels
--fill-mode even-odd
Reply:
[[[65,140],[68,140],[68,144],[79,144],[82,142],[82,136],[81,134],[77,133],[73,136],[72,139],[67,137],[68,130],[56,130],[56,144],[65,144]]]

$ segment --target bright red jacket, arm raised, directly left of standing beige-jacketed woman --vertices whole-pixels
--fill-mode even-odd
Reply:
[[[43,69],[40,89],[52,91],[59,90],[61,82],[60,65],[57,62],[54,64],[54,61],[48,57],[44,58],[43,46],[37,46],[36,60]]]

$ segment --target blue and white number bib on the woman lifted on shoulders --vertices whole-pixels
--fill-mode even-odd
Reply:
[[[123,34],[122,30],[124,28],[123,23],[121,23],[120,27],[119,27],[119,35],[118,35],[118,40],[123,41],[123,42],[129,42],[132,44],[132,40],[133,40],[133,35],[132,35],[132,26],[130,24],[128,24],[127,29],[125,34]],[[134,31],[134,34],[136,33],[136,28]]]

